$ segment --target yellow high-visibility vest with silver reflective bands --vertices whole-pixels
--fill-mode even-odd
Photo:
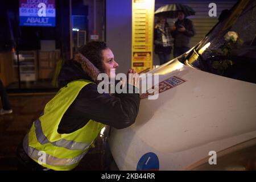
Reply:
[[[90,119],[84,127],[73,133],[57,133],[65,111],[80,90],[89,83],[93,82],[88,80],[69,82],[47,103],[43,114],[33,122],[23,140],[23,148],[36,163],[53,170],[75,168],[105,126]]]

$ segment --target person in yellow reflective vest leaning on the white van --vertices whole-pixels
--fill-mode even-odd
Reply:
[[[75,58],[61,68],[59,92],[46,104],[18,147],[20,169],[71,170],[105,125],[123,129],[135,122],[138,93],[108,94],[97,90],[97,76],[113,76],[117,67],[106,43],[90,42],[79,48]],[[130,69],[129,73],[135,71]],[[125,88],[135,90],[134,85],[126,84]]]

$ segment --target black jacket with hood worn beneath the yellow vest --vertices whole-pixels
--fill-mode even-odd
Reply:
[[[95,80],[87,74],[92,69],[84,70],[80,63],[69,60],[63,65],[59,75],[59,86],[63,87],[68,82],[79,79]],[[86,73],[85,73],[86,72]],[[139,111],[138,93],[121,93],[111,95],[100,94],[97,84],[88,84],[81,89],[75,101],[63,115],[58,127],[58,133],[72,133],[81,129],[89,119],[123,129],[135,122]]]

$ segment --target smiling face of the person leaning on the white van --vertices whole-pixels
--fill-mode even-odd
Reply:
[[[112,72],[111,76],[112,78],[115,77],[115,69],[118,67],[117,62],[114,60],[113,52],[106,48],[102,51],[102,59],[103,59],[103,65],[104,65],[104,71],[110,78],[110,72]]]

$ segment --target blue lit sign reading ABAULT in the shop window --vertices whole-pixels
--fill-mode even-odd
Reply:
[[[55,0],[19,0],[19,25],[55,27]]]

